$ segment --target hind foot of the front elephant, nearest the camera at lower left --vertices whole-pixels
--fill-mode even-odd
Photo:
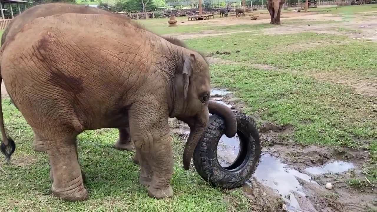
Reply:
[[[88,192],[84,188],[84,184],[82,181],[78,181],[77,183],[69,186],[67,188],[58,188],[55,187],[54,184],[51,187],[52,194],[61,198],[62,200],[67,201],[82,201],[88,198]]]

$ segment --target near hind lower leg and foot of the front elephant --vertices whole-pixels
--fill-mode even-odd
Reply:
[[[59,133],[43,136],[51,138],[44,140],[54,178],[51,191],[63,200],[85,200],[88,192],[84,188],[77,160],[76,135],[58,135]]]

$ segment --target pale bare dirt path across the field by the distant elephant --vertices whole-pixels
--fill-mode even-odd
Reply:
[[[252,34],[293,34],[299,32],[316,32],[316,33],[328,33],[337,35],[347,35],[353,39],[369,39],[377,42],[377,16],[368,16],[365,18],[365,14],[373,12],[361,12],[354,14],[352,17],[346,19],[346,22],[340,22],[343,20],[340,15],[333,14],[316,14],[313,12],[298,13],[298,12],[286,12],[282,14],[282,25],[274,28],[267,28],[261,30],[245,30],[245,31],[204,31],[200,33],[181,33],[181,34],[169,34],[175,36],[181,40],[187,40],[192,38],[201,38],[208,36],[228,35],[241,32],[251,32]],[[257,16],[257,20],[250,20],[251,17]],[[260,24],[269,23],[269,14],[247,12],[245,17],[235,18],[234,15],[230,15],[227,18],[215,18],[206,21],[198,22],[181,22],[180,25],[241,25],[241,24]],[[305,24],[305,20],[309,24]],[[290,21],[296,21],[298,23],[290,23]],[[310,24],[315,21],[338,21],[337,23],[324,23],[324,24]],[[284,24],[287,22],[287,24]],[[339,31],[339,28],[349,29],[349,31]],[[355,31],[355,32],[353,32]]]

